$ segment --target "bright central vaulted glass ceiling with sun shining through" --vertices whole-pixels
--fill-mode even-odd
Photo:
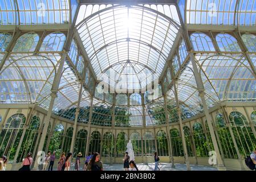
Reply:
[[[76,23],[97,77],[113,88],[144,88],[153,81],[147,75],[159,77],[180,28],[170,18],[177,17],[175,6],[162,6],[169,16],[140,5],[99,9],[82,6]]]

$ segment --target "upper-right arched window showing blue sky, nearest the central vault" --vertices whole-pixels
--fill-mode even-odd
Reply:
[[[190,35],[194,51],[215,51],[213,42],[209,36],[202,33]]]

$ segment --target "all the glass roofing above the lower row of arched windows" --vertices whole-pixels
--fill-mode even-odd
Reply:
[[[42,3],[46,5],[43,12]],[[75,7],[75,0],[0,1],[1,104],[49,108],[67,30],[42,33],[31,25],[42,30],[44,25],[71,23]],[[178,10],[188,26],[208,107],[223,101],[255,102],[256,1],[180,0]],[[181,22],[174,5],[80,5],[52,112],[74,121],[83,84],[79,122],[88,122],[92,95],[93,125],[111,126],[113,115],[117,127],[141,126],[143,115],[147,126],[165,124],[167,116],[170,123],[177,122],[173,79],[177,80],[182,119],[203,112]],[[5,28],[10,25],[27,25],[31,31],[21,30],[18,40],[9,45],[14,33]],[[190,30],[189,25],[200,31]],[[250,28],[217,32],[205,31],[205,25]],[[161,76],[157,82],[160,94],[149,100],[151,92],[94,92],[93,72],[98,80],[120,90],[144,89]],[[165,93],[169,115],[164,109]]]

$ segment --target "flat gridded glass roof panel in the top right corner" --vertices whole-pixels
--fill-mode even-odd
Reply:
[[[186,22],[189,24],[256,25],[254,0],[188,0],[186,5]]]

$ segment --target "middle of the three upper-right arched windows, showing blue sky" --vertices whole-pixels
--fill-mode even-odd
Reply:
[[[218,34],[216,36],[216,41],[220,51],[241,52],[241,49],[237,43],[237,39],[229,34]]]

